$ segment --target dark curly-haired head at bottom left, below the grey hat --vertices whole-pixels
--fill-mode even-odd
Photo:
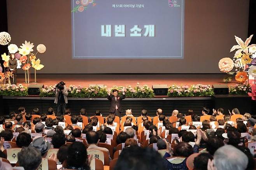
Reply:
[[[23,147],[18,153],[18,164],[24,170],[37,170],[42,162],[42,156],[34,147]]]

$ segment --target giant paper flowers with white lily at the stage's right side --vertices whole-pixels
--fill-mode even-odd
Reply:
[[[235,80],[240,84],[244,84],[249,79],[248,74],[254,77],[254,79],[256,77],[256,44],[249,45],[252,36],[253,35],[247,38],[245,42],[235,36],[238,45],[234,45],[230,49],[230,52],[237,50],[233,60],[229,57],[225,57],[219,61],[219,69],[224,73],[234,74],[231,70],[235,67]]]

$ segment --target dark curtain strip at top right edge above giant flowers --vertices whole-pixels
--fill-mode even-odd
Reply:
[[[256,0],[249,3],[248,37],[253,34],[250,44],[256,44]]]

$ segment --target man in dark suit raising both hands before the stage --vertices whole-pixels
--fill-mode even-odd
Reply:
[[[123,111],[123,108],[121,106],[121,100],[125,98],[125,94],[123,92],[123,95],[118,95],[118,90],[113,89],[112,95],[110,95],[110,92],[107,96],[107,99],[111,101],[111,107],[109,109],[110,113],[114,113],[116,116],[121,117],[121,112]]]

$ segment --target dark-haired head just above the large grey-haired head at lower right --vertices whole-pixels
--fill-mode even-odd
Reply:
[[[221,138],[217,136],[209,137],[208,140],[206,141],[206,150],[211,155],[214,155],[215,151],[219,149],[221,146],[224,146],[224,142]]]

